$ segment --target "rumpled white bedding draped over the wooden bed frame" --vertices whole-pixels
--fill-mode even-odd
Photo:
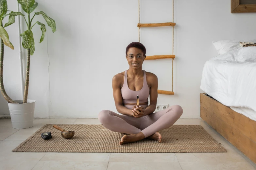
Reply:
[[[200,88],[256,121],[256,47],[239,48],[208,60]]]

